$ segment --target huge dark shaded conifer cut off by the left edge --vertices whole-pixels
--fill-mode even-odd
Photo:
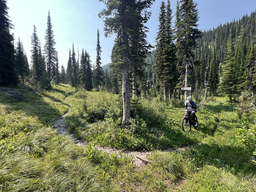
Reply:
[[[17,84],[15,73],[14,48],[12,44],[11,21],[8,16],[6,0],[0,0],[0,85]]]

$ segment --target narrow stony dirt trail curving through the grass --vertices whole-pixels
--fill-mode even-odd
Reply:
[[[64,98],[65,102],[67,102],[67,97],[68,97],[68,95],[66,95],[65,98]],[[54,121],[55,121],[54,129],[56,129],[57,132],[59,133],[59,135],[61,135],[61,136],[70,136],[74,140],[74,143],[76,143],[77,145],[79,145],[79,146],[88,146],[88,143],[85,140],[77,139],[74,133],[69,133],[68,132],[68,127],[65,124],[65,118],[71,112],[72,104],[69,103],[69,102],[67,102],[67,103],[69,105],[69,110],[67,112],[65,112],[62,116],[57,117],[57,118],[54,119]],[[120,154],[120,150],[117,150],[117,149],[114,149],[114,148],[101,147],[99,145],[96,145],[95,147],[96,147],[97,150],[101,150],[105,153]],[[195,145],[186,146],[186,147],[178,148],[178,149],[169,148],[169,149],[163,150],[163,152],[178,152],[178,151],[188,150],[188,149],[191,149],[191,148],[194,148],[194,147],[195,147]],[[145,151],[122,151],[121,153],[122,153],[122,155],[132,156],[133,157],[133,163],[137,167],[140,167],[143,164],[143,162],[150,162],[147,159],[147,155],[151,154],[150,151],[148,151],[148,152],[145,152]]]

